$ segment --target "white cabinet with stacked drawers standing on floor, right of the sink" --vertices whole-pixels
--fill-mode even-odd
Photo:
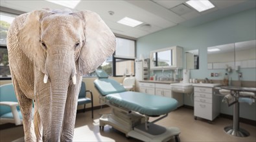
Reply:
[[[213,121],[220,114],[220,100],[213,88],[194,86],[194,117]]]

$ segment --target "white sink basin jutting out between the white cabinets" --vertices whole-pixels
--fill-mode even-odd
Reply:
[[[192,93],[193,86],[191,83],[172,83],[170,84],[170,89],[172,92],[178,93]]]

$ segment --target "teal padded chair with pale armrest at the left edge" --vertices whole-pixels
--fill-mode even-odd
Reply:
[[[14,86],[11,84],[0,86],[0,124],[22,124],[22,115],[17,103]]]

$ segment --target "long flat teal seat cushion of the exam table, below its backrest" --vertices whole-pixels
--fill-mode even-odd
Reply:
[[[178,101],[170,97],[154,96],[141,92],[108,94],[105,99],[121,107],[134,110],[146,116],[160,116],[178,107]]]

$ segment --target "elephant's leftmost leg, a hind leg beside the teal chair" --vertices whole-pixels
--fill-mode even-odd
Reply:
[[[23,129],[25,134],[25,141],[36,141],[33,125],[33,113],[32,113],[32,99],[29,99],[21,91],[16,77],[12,76],[12,83],[14,83],[14,89],[16,92],[17,100],[19,101],[19,108],[23,117]]]

